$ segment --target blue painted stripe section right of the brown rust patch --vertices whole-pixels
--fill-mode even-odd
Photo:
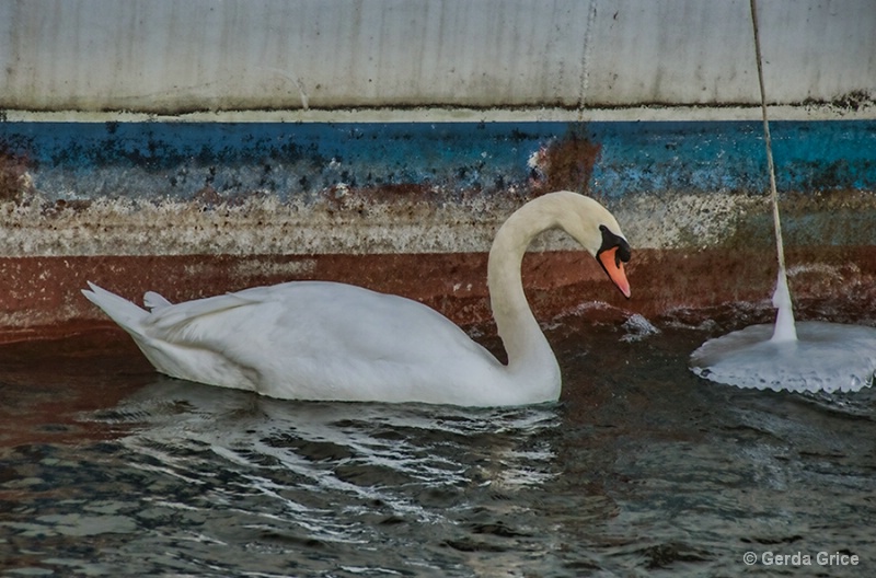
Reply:
[[[771,123],[780,190],[874,190],[876,123]],[[602,144],[596,189],[764,190],[761,123],[611,123],[590,125]],[[611,193],[608,193],[611,196]]]

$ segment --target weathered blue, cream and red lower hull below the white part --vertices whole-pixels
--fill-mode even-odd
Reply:
[[[618,217],[634,250],[634,298],[614,294],[570,240],[545,233],[525,275],[541,320],[593,302],[681,324],[735,302],[769,315],[775,261],[758,130],[0,123],[12,190],[0,198],[0,339],[105,324],[79,293],[87,280],[178,300],[330,279],[488,323],[495,231],[554,188],[586,192]],[[869,319],[876,122],[779,123],[773,136],[804,311]]]

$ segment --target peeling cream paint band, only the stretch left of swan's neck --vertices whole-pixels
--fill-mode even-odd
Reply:
[[[209,209],[193,203],[97,199],[88,207],[44,210],[2,204],[0,254],[186,255],[441,253],[486,251],[520,199],[281,204],[275,197]]]

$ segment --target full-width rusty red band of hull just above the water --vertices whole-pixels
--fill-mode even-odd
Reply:
[[[787,263],[802,319],[876,323],[876,247],[794,247]],[[485,271],[485,253],[0,257],[8,287],[0,292],[0,343],[112,327],[80,293],[89,280],[135,302],[146,290],[182,301],[288,280],[350,282],[416,299],[489,334]],[[731,303],[756,303],[762,320],[771,314],[775,259],[766,251],[639,250],[627,274],[631,300],[581,252],[533,252],[523,261],[527,293],[543,321],[577,311],[695,324]]]

